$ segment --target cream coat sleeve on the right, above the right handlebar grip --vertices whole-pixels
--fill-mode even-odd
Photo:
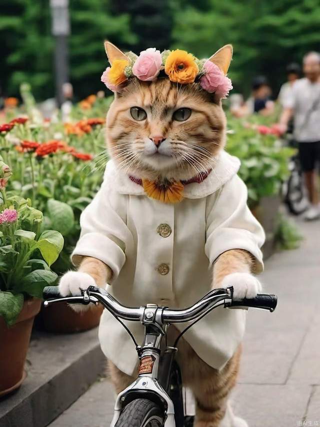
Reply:
[[[263,228],[247,207],[247,189],[234,175],[207,203],[205,254],[211,264],[223,252],[244,249],[255,259],[254,272],[263,270]]]

